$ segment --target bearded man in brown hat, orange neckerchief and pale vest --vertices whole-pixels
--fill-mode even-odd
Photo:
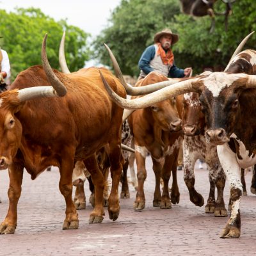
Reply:
[[[147,76],[152,71],[159,72],[167,77],[189,76],[192,68],[178,68],[174,64],[174,56],[171,49],[176,44],[179,36],[172,33],[171,29],[163,29],[154,36],[154,45],[145,49],[139,61],[140,77]]]

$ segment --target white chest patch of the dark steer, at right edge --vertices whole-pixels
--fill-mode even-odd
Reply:
[[[234,133],[231,134],[230,138],[234,138],[239,144],[239,155],[242,157],[242,159],[236,157],[239,166],[245,169],[252,166],[253,164],[256,164],[256,156],[253,157],[253,154],[251,156],[249,155],[249,150],[246,150],[243,141],[238,140],[236,134]]]

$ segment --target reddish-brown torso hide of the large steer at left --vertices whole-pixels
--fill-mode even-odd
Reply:
[[[101,70],[113,89],[125,97],[119,81],[108,70]],[[76,151],[76,160],[92,155],[111,140],[112,123],[120,122],[113,118],[122,113],[109,99],[97,68],[84,68],[65,75],[55,73],[67,87],[67,96],[29,100],[15,113],[23,130],[19,149],[26,155],[24,164],[33,179],[47,166],[61,165],[63,147],[70,148],[71,156]],[[35,66],[20,73],[10,90],[42,84],[49,83],[42,67]],[[14,114],[12,110],[10,113]],[[18,157],[19,161],[22,158]]]

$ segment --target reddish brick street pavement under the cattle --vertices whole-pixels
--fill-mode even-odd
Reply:
[[[58,189],[58,168],[31,180],[24,172],[22,195],[18,205],[15,234],[0,236],[1,255],[256,255],[256,196],[250,193],[252,173],[246,175],[248,196],[241,202],[241,237],[220,239],[227,217],[205,214],[204,207],[189,201],[183,172],[178,172],[180,203],[172,209],[152,206],[154,173],[147,159],[145,182],[146,207],[135,212],[136,195],[130,186],[131,199],[120,199],[118,220],[106,216],[100,224],[88,224],[92,206],[79,210],[79,229],[62,230],[65,201]],[[207,200],[208,172],[196,169],[196,189]],[[8,209],[8,172],[0,172],[1,221]],[[86,183],[86,198],[89,198]],[[225,188],[228,204],[228,188]]]

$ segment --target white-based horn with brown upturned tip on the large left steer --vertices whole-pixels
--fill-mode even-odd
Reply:
[[[18,98],[20,102],[30,99],[35,99],[38,97],[63,97],[67,93],[67,88],[61,81],[56,77],[54,72],[49,65],[47,60],[46,52],[45,52],[45,45],[46,45],[47,34],[44,37],[43,44],[42,44],[42,63],[47,74],[47,78],[52,86],[38,86],[38,87],[31,87],[25,88],[22,90],[18,90]]]

